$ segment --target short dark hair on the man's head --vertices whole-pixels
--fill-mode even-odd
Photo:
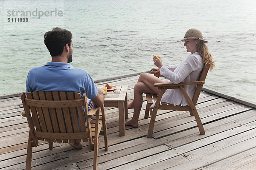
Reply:
[[[63,47],[68,44],[70,47],[72,34],[66,29],[55,27],[52,31],[44,34],[44,44],[48,48],[52,57],[61,55]]]

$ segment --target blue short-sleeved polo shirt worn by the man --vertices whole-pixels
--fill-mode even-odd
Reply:
[[[98,94],[93,79],[87,71],[73,68],[66,62],[47,62],[41,67],[32,68],[26,80],[26,92],[33,91],[73,91],[81,97],[86,93],[89,99]]]

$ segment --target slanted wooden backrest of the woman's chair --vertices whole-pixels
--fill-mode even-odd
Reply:
[[[201,74],[199,75],[199,78],[198,78],[199,81],[204,81],[206,79],[209,68],[210,68],[210,64],[205,63],[204,67],[203,67],[203,70],[201,71]],[[198,101],[198,98],[199,98],[200,92],[203,88],[203,85],[204,84],[199,84],[199,85],[196,86],[195,93],[194,93],[194,96],[193,96],[193,99],[192,99],[192,102],[194,103],[194,105],[196,105],[196,103]]]

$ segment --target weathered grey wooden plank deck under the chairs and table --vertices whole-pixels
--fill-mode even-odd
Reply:
[[[97,85],[128,85],[128,103],[138,75],[117,77]],[[207,83],[207,82],[206,82]],[[8,97],[8,98],[6,98]],[[25,168],[28,130],[20,96],[0,99],[0,169]],[[119,136],[118,108],[106,108],[109,150],[105,152],[103,136],[99,146],[99,170],[255,170],[256,108],[202,91],[197,109],[206,134],[200,135],[189,112],[159,111],[153,138],[148,139],[149,119],[144,118],[145,103],[138,128],[126,127]],[[242,101],[242,100],[241,100]],[[247,104],[247,103],[245,103]],[[128,110],[128,119],[133,110]],[[34,170],[89,170],[93,151],[87,142],[81,150],[70,144],[46,142],[33,148]]]

